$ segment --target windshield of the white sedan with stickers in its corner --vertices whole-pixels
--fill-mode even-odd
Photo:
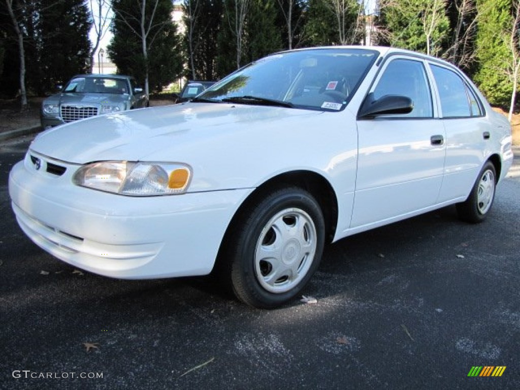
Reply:
[[[199,101],[342,110],[378,52],[324,48],[274,54],[230,74]]]

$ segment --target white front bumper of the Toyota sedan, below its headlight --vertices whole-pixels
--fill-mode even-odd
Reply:
[[[125,197],[73,185],[78,165],[37,158],[38,169],[28,153],[9,175],[18,224],[62,261],[114,278],[208,274],[233,214],[252,191]],[[55,164],[66,167],[61,176],[48,172]]]

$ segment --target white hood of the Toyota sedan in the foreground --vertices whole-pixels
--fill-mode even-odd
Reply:
[[[239,145],[243,150],[261,147],[268,132],[290,129],[295,116],[320,114],[281,107],[186,103],[100,115],[54,127],[38,135],[30,148],[77,164],[101,160],[190,163],[201,154],[224,158],[230,148]]]

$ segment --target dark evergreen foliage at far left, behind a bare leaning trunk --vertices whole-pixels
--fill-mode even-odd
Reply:
[[[57,83],[86,71],[90,18],[83,0],[16,0],[12,9],[23,35],[24,80],[28,93],[41,95]],[[0,88],[14,95],[20,87],[21,59],[6,3],[0,3],[4,72]]]

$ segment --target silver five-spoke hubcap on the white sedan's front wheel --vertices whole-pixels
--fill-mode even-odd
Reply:
[[[291,290],[307,274],[316,253],[316,227],[300,209],[285,209],[269,219],[255,249],[255,275],[272,293]]]

